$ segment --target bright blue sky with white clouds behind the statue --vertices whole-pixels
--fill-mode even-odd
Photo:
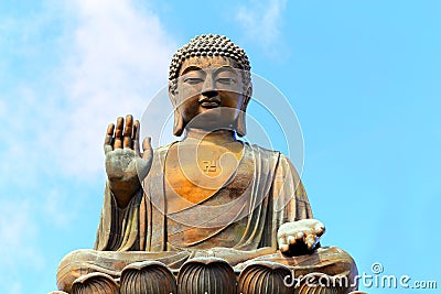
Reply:
[[[1,1],[0,292],[55,290],[63,255],[93,247],[107,123],[140,117],[201,33],[229,36],[290,100],[322,243],[361,273],[380,262],[441,287],[440,14],[437,0]]]

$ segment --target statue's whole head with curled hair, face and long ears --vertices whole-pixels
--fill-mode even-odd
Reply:
[[[195,36],[178,50],[170,65],[173,133],[181,135],[190,121],[204,115],[206,119],[201,123],[216,124],[206,126],[208,129],[225,127],[239,137],[245,135],[245,111],[251,92],[250,65],[245,51],[226,36]]]

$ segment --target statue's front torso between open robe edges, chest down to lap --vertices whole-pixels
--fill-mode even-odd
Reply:
[[[254,161],[246,152],[200,150],[178,160],[178,150],[165,161],[168,241],[173,247],[233,248],[247,228]],[[229,159],[228,159],[229,156]]]

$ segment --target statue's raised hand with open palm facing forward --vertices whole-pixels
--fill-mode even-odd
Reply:
[[[117,119],[115,128],[107,128],[104,150],[106,154],[106,173],[110,190],[119,207],[126,207],[133,195],[141,188],[141,182],[150,171],[153,150],[150,138],[142,142],[143,153],[139,149],[139,121],[132,116]]]

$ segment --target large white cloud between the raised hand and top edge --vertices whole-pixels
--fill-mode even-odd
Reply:
[[[104,168],[107,124],[127,113],[140,118],[165,85],[176,45],[158,18],[132,1],[76,1],[72,11],[77,26],[63,72],[68,104],[57,154],[66,172],[87,177]]]

